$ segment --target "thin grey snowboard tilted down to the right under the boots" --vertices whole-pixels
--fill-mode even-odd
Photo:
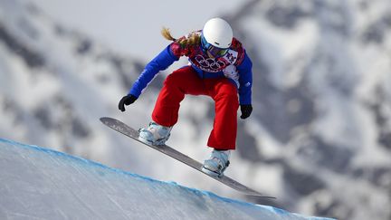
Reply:
[[[215,177],[215,176],[209,175],[209,174],[202,171],[203,165],[200,162],[196,161],[193,158],[186,156],[185,154],[177,151],[176,149],[171,148],[167,145],[155,146],[155,145],[151,145],[151,144],[148,144],[146,142],[139,140],[138,139],[138,130],[130,128],[128,125],[126,125],[125,123],[123,123],[119,120],[115,120],[115,119],[108,118],[108,117],[103,117],[103,118],[100,118],[100,121],[103,124],[105,124],[106,126],[108,126],[110,129],[114,129],[114,130],[118,131],[119,133],[122,133],[122,134],[128,136],[131,139],[137,140],[138,142],[148,146],[149,148],[154,148],[157,151],[160,151],[161,153],[166,154],[167,156],[169,156],[171,158],[175,158],[176,160],[186,164],[187,166],[193,167],[196,170],[200,171],[201,173],[203,173],[209,177],[215,178],[215,180],[223,183],[225,186],[231,187],[231,188],[243,193],[244,195],[255,196],[255,197],[260,197],[260,198],[275,198],[272,196],[264,196],[263,194],[253,190],[252,188],[245,187],[243,184],[235,181],[234,179],[232,179],[230,177],[226,177],[226,176]]]

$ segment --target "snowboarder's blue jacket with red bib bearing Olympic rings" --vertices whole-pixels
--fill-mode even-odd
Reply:
[[[191,66],[201,78],[226,77],[238,88],[240,104],[252,103],[253,63],[245,53],[242,44],[235,38],[228,53],[223,57],[207,57],[199,44],[181,45],[179,41],[169,44],[152,61],[148,62],[138,80],[134,82],[129,94],[136,97],[144,91],[157,72],[166,70],[181,56],[187,56]]]

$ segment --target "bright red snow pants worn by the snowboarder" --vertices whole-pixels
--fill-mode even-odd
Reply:
[[[174,126],[178,120],[180,102],[186,94],[207,95],[215,100],[214,128],[207,146],[216,149],[234,149],[239,108],[234,83],[227,78],[201,79],[191,66],[176,70],[164,81],[152,112],[152,120],[159,125]]]

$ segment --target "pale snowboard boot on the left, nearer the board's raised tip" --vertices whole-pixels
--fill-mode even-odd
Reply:
[[[172,127],[150,122],[147,129],[139,129],[138,139],[151,145],[164,145],[170,136]]]

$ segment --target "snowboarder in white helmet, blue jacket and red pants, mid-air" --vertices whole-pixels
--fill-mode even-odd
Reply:
[[[242,43],[234,38],[230,24],[221,18],[212,18],[202,30],[178,39],[167,28],[162,35],[172,43],[147,64],[128,95],[119,100],[119,110],[125,111],[125,105],[137,100],[157,72],[186,56],[189,64],[169,74],[164,81],[152,121],[148,128],[140,129],[139,139],[153,145],[165,144],[185,95],[210,96],[215,100],[215,121],[207,146],[213,150],[204,162],[203,171],[221,177],[229,165],[231,150],[235,149],[237,110],[240,106],[243,120],[253,111],[253,64]]]

